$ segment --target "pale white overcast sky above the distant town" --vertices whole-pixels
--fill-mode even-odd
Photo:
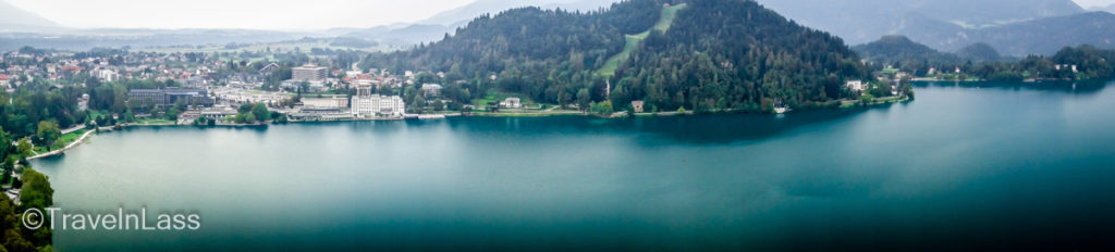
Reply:
[[[8,0],[75,28],[311,30],[418,21],[475,0]],[[1115,0],[1074,0],[1085,9]]]

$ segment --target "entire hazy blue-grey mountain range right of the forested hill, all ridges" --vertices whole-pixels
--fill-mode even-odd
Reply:
[[[1064,47],[1115,48],[1115,14],[1072,0],[759,0],[851,44],[901,34],[939,51],[986,43],[1001,56],[1049,56]]]

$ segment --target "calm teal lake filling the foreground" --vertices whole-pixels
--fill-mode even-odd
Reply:
[[[56,231],[62,251],[1115,248],[1115,89],[915,92],[785,115],[136,128],[32,165],[64,210],[201,215]]]

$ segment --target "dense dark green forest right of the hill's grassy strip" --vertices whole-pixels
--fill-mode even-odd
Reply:
[[[689,1],[673,28],[652,32],[619,72],[617,103],[697,111],[818,107],[847,97],[846,79],[869,74],[840,38],[754,1]]]

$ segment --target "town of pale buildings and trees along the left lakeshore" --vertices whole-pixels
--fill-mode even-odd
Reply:
[[[0,57],[0,85],[8,93],[32,85],[87,90],[77,99],[77,108],[87,111],[89,122],[97,125],[268,122],[256,114],[237,117],[245,112],[240,108],[256,104],[273,113],[268,118],[277,122],[428,119],[475,109],[445,99],[442,83],[423,82],[440,80],[443,72],[394,73],[361,69],[358,62],[341,62],[338,57],[280,53],[266,57],[294,60],[240,60],[216,52],[25,48]],[[124,99],[105,102],[105,93],[90,87],[101,83],[122,83],[124,90],[109,91],[124,92]],[[514,109],[521,107],[518,102],[518,98],[505,98],[500,103]],[[433,115],[419,115],[427,111]]]

